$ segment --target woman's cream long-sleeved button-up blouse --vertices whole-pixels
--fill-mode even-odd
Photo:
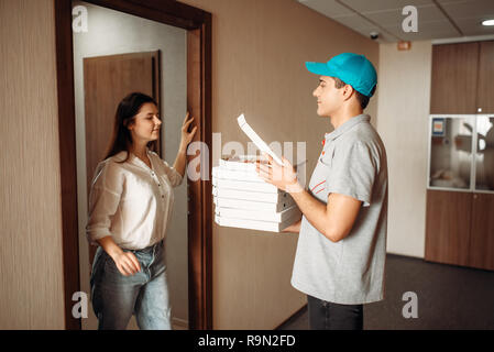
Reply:
[[[182,175],[147,150],[150,168],[131,153],[120,152],[98,164],[89,195],[86,234],[91,244],[111,235],[122,249],[141,250],[166,235],[174,194]]]

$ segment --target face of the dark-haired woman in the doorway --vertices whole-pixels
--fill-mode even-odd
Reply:
[[[157,108],[152,102],[145,102],[142,105],[134,121],[129,125],[129,130],[132,134],[132,141],[150,142],[155,141],[160,136],[160,128],[162,121],[157,112]]]

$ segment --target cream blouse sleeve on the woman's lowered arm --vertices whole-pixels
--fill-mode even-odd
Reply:
[[[89,194],[89,215],[86,237],[97,245],[99,239],[111,235],[111,220],[117,212],[123,191],[123,174],[111,162],[98,164]]]

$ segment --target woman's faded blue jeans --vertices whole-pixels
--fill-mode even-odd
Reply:
[[[171,330],[163,241],[124,251],[136,256],[141,272],[124,276],[101,246],[96,251],[90,284],[98,330],[124,330],[133,314],[142,330]]]

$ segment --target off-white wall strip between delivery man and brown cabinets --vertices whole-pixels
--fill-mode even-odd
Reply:
[[[431,42],[380,45],[377,131],[389,177],[387,252],[424,257]]]

